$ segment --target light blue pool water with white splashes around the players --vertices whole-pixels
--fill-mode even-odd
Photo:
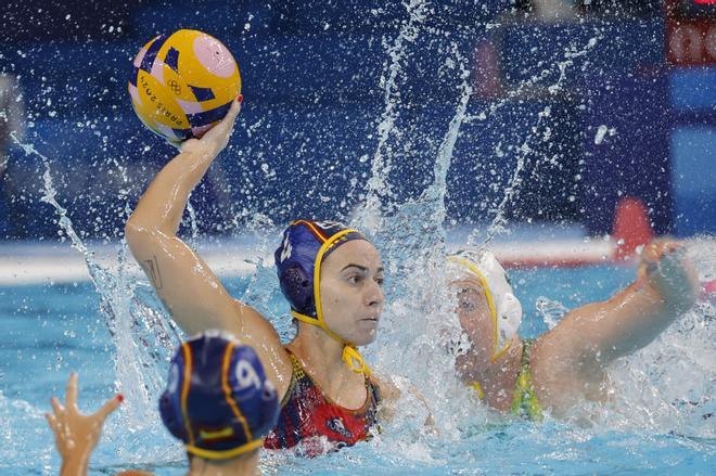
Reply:
[[[512,271],[525,309],[522,335],[544,332],[565,308],[609,297],[634,271],[630,266]],[[272,280],[269,268],[259,268],[225,282],[234,296],[271,316],[287,338],[291,326],[282,317],[287,309]],[[129,467],[184,474],[181,448],[155,411],[169,350],[154,340],[156,332],[127,322],[137,316],[164,319],[163,311],[144,282],[132,284],[131,293],[107,288],[92,283],[0,288],[0,474],[57,474],[43,412],[52,395],[64,396],[71,371],[79,372],[81,409],[97,408],[117,390],[127,396],[106,424],[91,474]],[[136,299],[126,304],[128,295]],[[425,334],[434,325],[423,325],[425,318],[440,321],[438,308],[421,313],[411,296],[388,299],[384,332],[366,353],[399,386],[409,388],[410,379],[429,400],[435,427],[423,426],[426,410],[407,391],[395,420],[373,440],[310,460],[265,453],[265,474],[713,474],[713,304],[700,304],[652,345],[617,362],[612,403],[579,407],[584,419],[534,424],[485,410],[455,384],[450,369],[440,366],[447,360],[439,345]],[[123,313],[122,303],[133,311]]]

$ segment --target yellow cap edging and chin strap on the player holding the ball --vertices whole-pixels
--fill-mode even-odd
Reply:
[[[346,362],[348,368],[355,373],[362,373],[366,376],[369,376],[371,374],[370,368],[368,366],[368,364],[366,364],[363,357],[360,355],[356,346],[347,342],[346,339],[344,339],[343,337],[341,337],[330,329],[328,329],[328,325],[325,325],[325,321],[323,320],[323,309],[321,306],[320,282],[321,282],[321,262],[323,261],[323,255],[345,235],[355,232],[357,231],[351,229],[342,230],[337,232],[333,236],[329,237],[325,242],[323,242],[320,249],[318,250],[318,254],[316,255],[316,262],[314,263],[314,301],[316,304],[316,318],[302,314],[301,312],[297,312],[293,309],[291,310],[291,316],[298,319],[299,321],[306,322],[307,324],[317,325],[321,327],[333,339],[342,343],[343,360]]]

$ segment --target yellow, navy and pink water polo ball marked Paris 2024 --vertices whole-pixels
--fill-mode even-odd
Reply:
[[[216,38],[193,29],[161,35],[135,59],[129,94],[146,127],[170,142],[201,138],[241,92],[239,65]]]

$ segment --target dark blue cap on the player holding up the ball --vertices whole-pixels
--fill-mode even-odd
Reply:
[[[296,220],[285,229],[273,257],[281,292],[294,312],[318,319],[314,275],[316,266],[320,266],[316,262],[319,250],[329,244],[321,257],[325,259],[338,246],[353,240],[366,240],[366,236],[336,221]]]

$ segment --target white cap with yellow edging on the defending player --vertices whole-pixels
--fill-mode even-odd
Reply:
[[[448,257],[462,265],[483,285],[487,305],[493,316],[493,355],[497,360],[512,344],[522,322],[522,305],[512,291],[507,272],[495,255],[487,249],[465,249]]]

